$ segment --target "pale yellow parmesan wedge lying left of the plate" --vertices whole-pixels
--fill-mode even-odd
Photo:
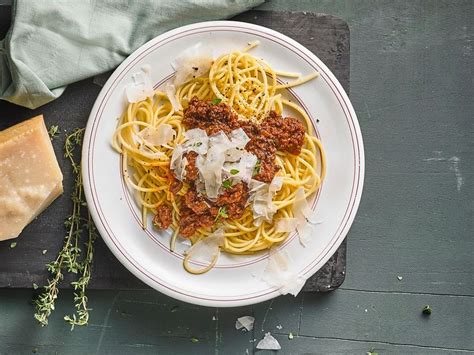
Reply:
[[[21,231],[63,192],[43,116],[0,132],[0,241]]]

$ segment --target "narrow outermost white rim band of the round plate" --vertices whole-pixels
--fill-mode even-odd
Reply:
[[[279,296],[280,293],[277,288],[273,288],[273,291],[267,292],[262,295],[257,295],[257,296],[247,297],[247,298],[243,298],[239,296],[239,299],[219,299],[219,298],[212,299],[209,296],[206,299],[203,299],[202,297],[196,297],[196,296],[192,296],[188,294],[183,294],[179,292],[179,290],[171,290],[166,285],[161,284],[159,280],[157,281],[154,278],[148,276],[145,272],[139,270],[139,267],[133,264],[132,262],[130,262],[128,258],[123,254],[123,252],[120,250],[120,248],[111,240],[111,237],[109,236],[109,233],[106,230],[105,226],[103,225],[101,221],[101,217],[99,216],[99,213],[97,209],[95,208],[91,181],[89,179],[89,176],[90,176],[89,175],[90,174],[89,154],[92,154],[91,153],[92,149],[90,149],[90,143],[91,143],[92,132],[94,129],[93,117],[97,115],[100,109],[102,100],[107,96],[108,90],[111,88],[115,80],[120,76],[120,73],[123,71],[123,69],[126,68],[131,62],[136,60],[137,57],[139,57],[143,52],[148,50],[151,46],[158,44],[159,42],[162,42],[170,37],[173,37],[183,32],[188,32],[188,31],[199,29],[199,28],[208,28],[208,27],[209,27],[209,31],[212,31],[211,27],[227,27],[228,31],[232,31],[232,29],[235,29],[235,27],[239,27],[241,29],[242,28],[249,29],[249,30],[258,31],[264,34],[272,35],[276,38],[279,38],[280,40],[284,40],[289,45],[293,46],[294,48],[298,49],[300,52],[304,53],[306,57],[311,59],[313,62],[317,63],[318,67],[320,67],[321,69],[320,72],[322,72],[324,75],[327,76],[330,82],[335,86],[335,89],[338,91],[340,98],[342,100],[341,106],[342,106],[342,103],[345,104],[346,110],[344,109],[344,107],[341,107],[341,109],[343,111],[343,114],[348,117],[348,123],[352,123],[353,130],[355,133],[355,141],[359,148],[358,149],[358,163],[359,164],[358,166],[354,167],[355,169],[354,174],[356,174],[356,171],[358,169],[358,176],[357,176],[358,182],[354,184],[356,188],[354,201],[352,202],[351,212],[349,213],[349,216],[346,222],[344,223],[341,233],[339,234],[337,239],[334,242],[332,242],[331,240],[330,243],[328,243],[328,245],[326,245],[323,248],[323,252],[325,252],[325,255],[322,258],[320,258],[317,261],[313,260],[307,267],[305,267],[301,271],[301,273],[304,274],[305,276],[308,274],[312,275],[315,272],[317,272],[327,262],[327,260],[329,260],[329,258],[333,255],[333,253],[337,250],[337,248],[339,248],[340,244],[346,238],[347,233],[349,232],[350,227],[352,226],[354,218],[357,214],[357,210],[359,208],[360,199],[363,192],[364,177],[365,177],[365,152],[364,152],[364,144],[363,144],[363,139],[362,139],[362,133],[359,126],[359,121],[357,119],[357,115],[355,113],[355,110],[352,106],[351,101],[349,100],[348,95],[346,94],[344,88],[339,83],[337,78],[331,72],[331,70],[329,70],[329,68],[313,52],[311,52],[305,46],[293,40],[292,38],[267,27],[245,23],[245,22],[239,22],[239,21],[198,22],[198,23],[181,26],[176,29],[167,31],[161,35],[154,37],[150,41],[146,42],[145,44],[137,48],[132,54],[130,54],[127,58],[125,58],[125,60],[114,70],[114,72],[112,73],[110,78],[107,80],[107,82],[105,83],[105,85],[103,86],[99,95],[96,98],[94,106],[89,115],[86,131],[84,134],[84,142],[83,142],[83,147],[82,147],[82,161],[81,161],[82,178],[83,178],[86,201],[89,205],[89,211],[96,224],[99,234],[101,235],[102,239],[105,241],[107,247],[112,251],[114,256],[122,263],[122,265],[124,265],[130,272],[132,272],[132,274],[134,274],[141,281],[143,281],[144,283],[146,283],[148,286],[152,287],[153,289],[156,289],[159,292],[162,292],[170,297],[173,297],[175,299],[178,299],[184,302],[203,305],[203,306],[210,306],[210,307],[244,306],[244,305],[255,304],[255,303],[272,299],[274,297]],[[334,95],[336,95],[336,93],[334,93]],[[348,202],[348,207],[351,206],[351,199]],[[330,245],[331,242],[332,242],[332,245]],[[325,251],[325,249],[327,249],[328,246],[329,246],[329,249]]]

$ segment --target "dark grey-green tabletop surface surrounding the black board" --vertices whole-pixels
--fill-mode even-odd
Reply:
[[[33,291],[2,289],[0,354],[265,354],[255,339],[269,331],[279,354],[474,352],[474,1],[275,0],[261,9],[323,12],[350,26],[350,97],[367,163],[345,283],[234,309],[93,291],[90,324],[73,332],[62,320],[70,291],[40,328]],[[234,329],[242,315],[256,317],[252,332]]]

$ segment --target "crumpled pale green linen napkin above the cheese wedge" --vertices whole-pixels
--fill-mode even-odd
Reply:
[[[36,108],[106,72],[153,37],[264,0],[17,0],[0,41],[0,98]]]

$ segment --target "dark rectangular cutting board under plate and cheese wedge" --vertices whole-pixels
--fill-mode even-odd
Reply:
[[[0,7],[0,18],[9,19]],[[3,13],[1,13],[3,12]],[[349,93],[349,27],[339,18],[309,12],[249,11],[234,18],[272,28],[294,38],[313,51],[336,75]],[[0,38],[2,34],[0,33]],[[0,287],[31,287],[42,285],[48,278],[45,264],[55,258],[65,236],[64,219],[71,211],[70,193],[73,176],[63,158],[65,131],[85,127],[90,110],[110,73],[70,85],[57,100],[30,110],[0,101],[0,129],[27,118],[43,114],[46,125],[59,125],[61,135],[53,141],[56,156],[64,174],[64,195],[34,220],[16,239],[0,242]],[[1,206],[0,206],[1,208]],[[47,250],[46,254],[42,251]],[[344,281],[346,269],[346,242],[344,241],[327,264],[311,277],[305,291],[329,291]],[[67,281],[67,280],[66,280]],[[69,287],[68,282],[63,283]],[[133,276],[108,250],[102,239],[95,243],[94,270],[90,284],[95,289],[148,288]]]

